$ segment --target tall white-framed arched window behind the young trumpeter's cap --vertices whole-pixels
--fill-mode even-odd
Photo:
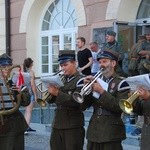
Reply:
[[[55,0],[48,7],[41,27],[42,74],[59,68],[59,50],[75,50],[77,17],[71,0]]]

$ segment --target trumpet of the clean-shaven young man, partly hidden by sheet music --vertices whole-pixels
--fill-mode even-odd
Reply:
[[[62,83],[65,82],[65,78],[64,78],[64,74],[62,73],[63,70],[60,70],[56,73],[54,73],[53,75],[50,75],[50,76],[46,76],[46,77],[51,77],[51,76],[55,76],[55,75],[59,75],[60,77],[60,80],[62,81]],[[46,106],[46,103],[48,103],[52,98],[53,98],[53,95],[51,95],[49,92],[48,92],[48,89],[45,88],[45,90],[42,90],[39,86],[42,86],[42,82],[40,82],[38,85],[37,85],[37,89],[42,93],[42,99],[41,98],[37,98],[37,103],[41,106],[41,107],[45,107]]]

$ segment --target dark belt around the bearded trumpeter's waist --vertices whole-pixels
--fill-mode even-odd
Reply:
[[[94,114],[96,114],[98,116],[110,116],[110,115],[113,115],[114,113],[100,107],[100,108],[94,110]]]

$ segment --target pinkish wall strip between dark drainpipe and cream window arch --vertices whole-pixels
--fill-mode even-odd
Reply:
[[[11,0],[11,57],[13,64],[22,64],[26,58],[26,34],[19,33],[20,17],[25,0]]]

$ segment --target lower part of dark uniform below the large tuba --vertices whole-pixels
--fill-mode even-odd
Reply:
[[[4,116],[0,122],[0,149],[24,150],[24,132],[28,125],[20,111]]]

